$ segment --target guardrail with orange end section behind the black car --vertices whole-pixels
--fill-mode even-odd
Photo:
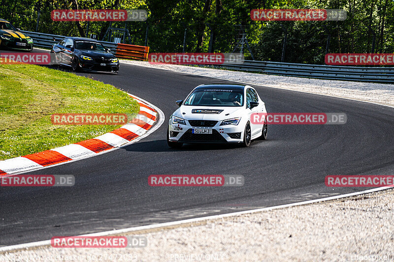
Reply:
[[[58,43],[60,40],[66,37],[64,35],[37,33],[30,31],[21,32],[33,38],[33,43],[35,47],[51,48],[54,44]],[[148,59],[149,46],[117,44],[105,41],[100,41],[100,43],[105,48],[111,49],[111,53],[114,54],[117,58],[128,58],[137,60]]]

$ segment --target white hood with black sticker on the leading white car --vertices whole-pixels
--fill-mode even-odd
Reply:
[[[242,115],[244,107],[181,106],[174,116],[185,119],[224,120]]]

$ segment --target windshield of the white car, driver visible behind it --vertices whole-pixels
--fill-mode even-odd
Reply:
[[[243,90],[197,89],[185,101],[186,106],[226,106],[243,105]]]

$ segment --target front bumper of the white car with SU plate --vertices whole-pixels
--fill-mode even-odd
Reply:
[[[168,139],[171,142],[180,143],[240,143],[243,142],[244,126],[220,125],[218,121],[213,127],[198,127],[190,125],[173,124],[172,117],[168,122]],[[193,134],[192,129],[212,129],[212,134]]]

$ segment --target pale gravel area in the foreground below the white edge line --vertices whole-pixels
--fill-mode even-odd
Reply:
[[[78,261],[80,256],[79,261],[389,262],[394,261],[393,211],[394,190],[389,189],[133,233],[146,236],[143,248],[37,247],[0,254],[0,261],[56,261],[33,256],[58,255],[63,256],[58,261]]]

